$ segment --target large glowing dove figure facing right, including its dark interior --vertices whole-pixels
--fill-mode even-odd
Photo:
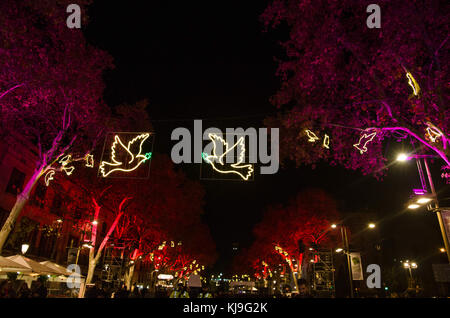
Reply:
[[[131,172],[136,170],[142,163],[149,159],[148,154],[142,154],[142,144],[150,136],[149,133],[140,134],[133,138],[125,146],[118,135],[114,136],[114,142],[111,146],[112,162],[102,161],[100,164],[100,173],[104,178],[113,172]],[[134,153],[133,153],[134,150]],[[151,156],[151,155],[150,155]],[[119,158],[121,161],[119,161]],[[131,167],[127,167],[131,165]]]

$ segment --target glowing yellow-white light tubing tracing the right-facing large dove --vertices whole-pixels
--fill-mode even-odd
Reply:
[[[142,153],[142,144],[145,142],[145,140],[147,140],[147,138],[150,136],[149,133],[144,133],[144,134],[140,134],[137,137],[133,138],[130,142],[128,142],[128,146],[125,147],[125,145],[123,144],[122,140],[120,139],[120,137],[118,135],[114,136],[114,142],[111,146],[111,160],[112,163],[110,162],[106,162],[106,161],[102,161],[100,164],[100,172],[102,174],[102,176],[104,178],[106,178],[109,174],[111,174],[112,172],[115,171],[121,171],[121,172],[131,172],[136,170],[143,162],[145,162],[146,160],[151,158],[151,153],[146,153],[145,155],[141,154]],[[133,154],[130,151],[131,146],[133,146],[133,144],[135,142],[139,142],[139,151],[136,154]],[[123,166],[123,162],[118,161],[116,159],[116,146],[117,144],[120,145],[122,152],[128,153],[128,156],[131,157],[131,159],[128,161],[128,164],[131,164],[132,162],[134,162],[134,166],[132,168],[129,169],[125,169],[125,168],[121,168],[121,166]],[[124,152],[125,151],[125,152]],[[139,161],[137,159],[140,159]],[[136,160],[135,160],[136,159]],[[110,166],[110,167],[114,167],[111,170],[109,170],[108,172],[106,172],[106,167],[105,166]]]

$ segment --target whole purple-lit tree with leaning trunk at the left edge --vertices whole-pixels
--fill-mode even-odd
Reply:
[[[67,28],[69,3],[0,4],[0,135],[20,134],[38,149],[34,173],[0,231],[0,251],[37,181],[67,151],[84,156],[103,132],[102,73],[112,59]]]

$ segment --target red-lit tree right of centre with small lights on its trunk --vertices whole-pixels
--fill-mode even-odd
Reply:
[[[264,278],[281,261],[293,277],[307,277],[309,248],[315,250],[330,242],[330,225],[337,218],[336,203],[320,189],[305,190],[286,205],[269,207],[253,231],[252,267]]]

